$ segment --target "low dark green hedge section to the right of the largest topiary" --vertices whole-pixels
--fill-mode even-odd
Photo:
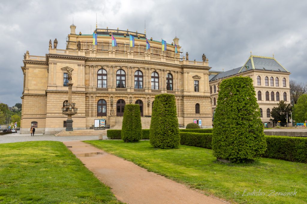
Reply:
[[[265,136],[267,149],[263,157],[307,163],[307,138]]]

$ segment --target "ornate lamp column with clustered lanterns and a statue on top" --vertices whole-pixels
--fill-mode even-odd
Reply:
[[[75,107],[76,103],[72,102],[72,70],[68,70],[68,102],[64,103],[64,106],[62,108],[62,114],[67,115],[67,120],[66,120],[66,131],[73,131],[72,128],[72,115],[76,115],[78,108]]]

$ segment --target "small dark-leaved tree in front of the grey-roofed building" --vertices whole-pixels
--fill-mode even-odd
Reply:
[[[287,113],[288,118],[290,118],[290,112],[292,111],[292,104],[287,104],[285,101],[281,100],[277,107],[273,107],[271,111],[271,117],[273,119],[270,119],[273,122],[281,121],[280,123],[285,124],[287,120]],[[289,122],[289,121],[288,121]]]

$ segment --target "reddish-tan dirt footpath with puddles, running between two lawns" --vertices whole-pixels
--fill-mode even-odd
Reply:
[[[101,182],[111,187],[116,198],[122,202],[225,204],[84,142],[63,143]]]

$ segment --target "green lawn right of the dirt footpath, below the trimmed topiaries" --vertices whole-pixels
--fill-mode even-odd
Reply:
[[[155,149],[149,141],[86,141],[139,166],[214,195],[238,203],[306,203],[307,164],[259,158],[250,164],[216,161],[211,149],[181,145],[179,149]],[[243,191],[267,192],[242,196]],[[268,196],[272,191],[296,191],[296,196]],[[239,192],[239,195],[235,195]]]

